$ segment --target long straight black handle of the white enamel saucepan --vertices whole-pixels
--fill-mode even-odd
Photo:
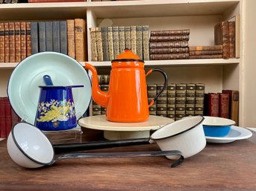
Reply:
[[[63,152],[78,152],[83,150],[107,149],[119,146],[135,146],[149,144],[149,138],[126,139],[126,140],[102,140],[88,143],[67,143],[54,145],[55,154]]]

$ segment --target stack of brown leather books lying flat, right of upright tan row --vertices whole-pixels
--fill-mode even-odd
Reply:
[[[189,59],[190,30],[152,30],[150,59]]]

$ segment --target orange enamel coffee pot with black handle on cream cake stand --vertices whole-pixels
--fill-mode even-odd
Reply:
[[[85,63],[85,68],[92,71],[93,100],[107,109],[107,120],[113,122],[143,122],[149,118],[149,107],[154,104],[157,97],[167,85],[167,75],[159,68],[153,68],[145,74],[144,61],[130,50],[125,50],[116,59],[112,60],[110,71],[109,90],[102,91],[99,88],[99,80],[96,68]],[[152,71],[163,74],[163,88],[149,103],[147,95],[146,76]]]

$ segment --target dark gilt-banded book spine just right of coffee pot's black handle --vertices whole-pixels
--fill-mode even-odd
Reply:
[[[167,117],[175,120],[176,110],[176,84],[171,83],[167,86]]]

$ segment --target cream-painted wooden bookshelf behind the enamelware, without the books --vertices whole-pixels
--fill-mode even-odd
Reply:
[[[249,77],[244,71],[245,42],[244,28],[245,9],[254,1],[244,0],[142,0],[142,1],[84,1],[65,3],[34,3],[34,4],[1,4],[0,20],[48,20],[75,19],[87,20],[88,59],[95,65],[99,74],[110,71],[110,62],[91,62],[90,27],[96,27],[103,19],[111,19],[113,25],[149,25],[150,30],[167,30],[190,28],[190,45],[213,45],[214,25],[222,20],[240,14],[240,58],[239,59],[183,59],[146,61],[149,68],[163,68],[169,76],[169,82],[205,82],[206,92],[222,89],[240,91],[240,125],[253,126],[255,122],[244,120],[245,115],[251,116],[252,104],[244,102],[252,94],[246,91]],[[253,14],[253,11],[250,12]],[[253,18],[253,16],[251,17]],[[250,21],[253,24],[253,21]],[[253,33],[249,35],[253,36]],[[253,43],[250,42],[252,45]],[[253,53],[252,53],[253,54]],[[253,59],[248,57],[248,62]],[[82,64],[84,62],[81,62]],[[7,82],[17,63],[0,63],[0,96],[6,96]],[[252,68],[250,68],[252,70]],[[249,69],[249,71],[250,71]],[[251,74],[252,75],[252,74]],[[150,78],[149,82],[161,79]],[[253,80],[252,80],[253,81]],[[243,94],[246,91],[246,94]],[[250,111],[250,112],[249,112]]]

